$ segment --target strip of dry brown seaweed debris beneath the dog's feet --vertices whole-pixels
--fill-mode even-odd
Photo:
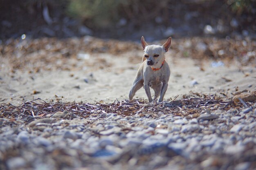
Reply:
[[[223,99],[216,96],[207,96],[205,98],[190,98],[180,99],[171,102],[162,102],[159,104],[150,104],[143,99],[131,101],[115,101],[110,104],[89,104],[77,102],[52,102],[47,103],[44,100],[37,98],[30,102],[25,102],[20,106],[13,106],[12,104],[0,105],[0,117],[47,117],[49,114],[58,111],[67,110],[79,117],[89,117],[93,114],[102,113],[117,113],[123,116],[131,115],[154,115],[155,113],[162,112],[164,114],[173,114],[180,116],[187,116],[191,114],[191,118],[195,117],[194,114],[199,114],[205,108],[212,109],[229,109],[232,106],[230,102],[224,102]],[[193,116],[194,115],[194,116]]]

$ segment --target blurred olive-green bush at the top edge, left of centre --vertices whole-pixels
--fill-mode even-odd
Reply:
[[[109,27],[118,19],[118,7],[125,0],[70,0],[68,13],[82,20],[91,20],[95,26]]]

